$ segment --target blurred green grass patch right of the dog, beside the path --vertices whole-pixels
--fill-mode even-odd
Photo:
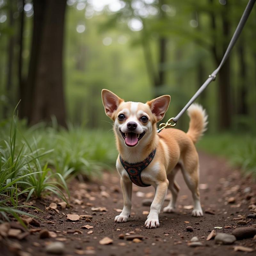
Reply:
[[[232,133],[205,135],[197,147],[213,155],[223,156],[233,166],[256,177],[256,136]]]

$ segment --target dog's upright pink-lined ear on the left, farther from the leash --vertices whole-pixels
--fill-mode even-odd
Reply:
[[[119,98],[115,93],[110,92],[106,89],[103,89],[101,91],[101,96],[105,112],[107,116],[111,118],[112,114],[116,111],[120,103],[124,100]]]

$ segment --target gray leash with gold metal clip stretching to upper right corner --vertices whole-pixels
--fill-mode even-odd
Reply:
[[[215,80],[217,74],[219,73],[220,71],[220,68],[222,68],[222,66],[224,65],[225,61],[228,59],[228,56],[233,48],[233,46],[236,44],[236,41],[238,39],[238,37],[240,36],[243,28],[244,28],[244,25],[245,25],[245,22],[246,20],[248,19],[251,11],[252,11],[252,8],[253,8],[253,5],[255,4],[255,1],[256,0],[249,0],[247,6],[245,7],[245,10],[244,10],[244,13],[236,27],[236,30],[234,32],[234,35],[232,36],[229,44],[228,44],[228,48],[220,62],[220,65],[218,68],[216,68],[211,75],[209,75],[209,77],[207,78],[207,80],[204,82],[204,84],[198,89],[198,91],[194,94],[194,96],[188,101],[188,103],[186,104],[186,106],[184,108],[181,109],[180,113],[175,116],[175,117],[172,117],[170,118],[166,124],[162,123],[159,125],[159,129],[157,130],[157,132],[160,132],[162,129],[168,127],[168,126],[175,126],[176,123],[178,122],[178,120],[180,119],[180,116],[182,116],[184,114],[184,112],[189,108],[189,106],[197,99],[197,97],[204,91],[204,89],[212,82]],[[172,124],[172,123],[173,124]]]

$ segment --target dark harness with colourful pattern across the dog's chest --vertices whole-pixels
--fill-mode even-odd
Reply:
[[[156,149],[154,149],[149,156],[143,160],[142,162],[130,164],[123,160],[123,158],[120,156],[121,164],[124,166],[124,169],[128,173],[130,180],[139,187],[149,187],[151,185],[144,184],[141,180],[141,172],[151,163],[154,156],[156,154]]]

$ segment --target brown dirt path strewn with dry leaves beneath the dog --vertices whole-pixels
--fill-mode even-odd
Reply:
[[[252,213],[248,206],[254,200],[256,186],[249,178],[241,178],[238,171],[231,170],[224,161],[216,159],[205,154],[200,154],[200,183],[201,185],[201,202],[205,210],[215,213],[204,213],[204,217],[196,218],[190,216],[192,210],[184,209],[184,206],[192,204],[190,192],[179,173],[177,176],[178,184],[181,187],[178,197],[177,213],[161,213],[159,216],[160,227],[156,229],[146,229],[143,224],[147,215],[143,215],[143,211],[149,211],[149,206],[142,206],[141,202],[146,196],[150,196],[150,192],[154,192],[153,188],[139,188],[133,185],[133,205],[132,218],[126,223],[116,224],[113,219],[118,212],[114,209],[122,209],[123,197],[119,186],[119,178],[114,172],[113,174],[104,174],[104,179],[98,184],[91,183],[86,186],[73,182],[71,184],[72,200],[74,198],[78,204],[73,204],[74,208],[60,210],[60,214],[50,215],[38,214],[45,222],[41,223],[40,228],[47,228],[57,234],[58,240],[63,240],[65,244],[64,255],[81,255],[94,253],[95,255],[241,255],[246,252],[234,252],[234,245],[244,245],[256,249],[256,240],[244,239],[236,241],[233,245],[217,245],[214,240],[206,241],[214,227],[222,227],[216,229],[216,232],[231,233],[236,227],[239,214],[247,216]],[[138,193],[142,192],[142,193]],[[144,194],[143,194],[144,193]],[[145,196],[145,197],[138,197]],[[228,198],[234,196],[235,202],[228,203]],[[252,198],[250,198],[252,196]],[[89,197],[89,198],[88,198]],[[152,197],[150,197],[152,198]],[[46,202],[48,205],[51,201]],[[79,205],[79,203],[82,203]],[[167,205],[164,202],[164,206]],[[88,205],[89,204],[89,205]],[[91,206],[90,206],[91,205]],[[37,204],[44,209],[42,204]],[[93,212],[92,207],[106,207],[107,212]],[[70,222],[66,220],[65,214],[89,214],[93,216],[90,223],[85,220],[78,222]],[[94,214],[94,215],[93,215]],[[48,217],[47,217],[48,216]],[[51,217],[52,216],[52,217]],[[52,218],[54,224],[47,224],[46,218]],[[246,219],[245,220],[249,220]],[[189,221],[189,223],[185,223]],[[89,224],[93,226],[92,234],[87,234],[90,230],[81,229],[82,226]],[[256,220],[252,219],[244,227],[253,226]],[[194,231],[186,231],[186,227],[191,226]],[[230,226],[231,228],[225,228]],[[240,226],[241,227],[241,226]],[[81,230],[83,234],[67,234],[70,230]],[[121,229],[117,231],[117,229]],[[131,232],[132,231],[132,232]],[[133,233],[142,235],[142,243],[134,243],[126,239],[119,239],[120,234]],[[100,245],[99,241],[108,236],[113,239],[113,244]],[[197,236],[203,246],[192,248],[188,246],[188,241]],[[29,235],[26,240],[19,243],[24,251],[30,252],[31,255],[46,255],[45,245],[55,241],[56,238],[40,239],[38,233]],[[17,241],[11,239],[11,241]],[[12,255],[7,247],[0,252],[0,255]],[[252,252],[253,255],[255,252]]]

